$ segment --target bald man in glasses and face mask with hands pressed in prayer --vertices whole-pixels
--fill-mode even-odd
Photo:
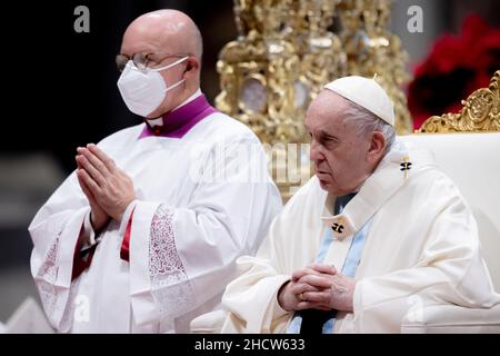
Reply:
[[[59,332],[188,332],[280,211],[258,138],[201,93],[201,55],[182,12],[127,29],[118,87],[144,122],[78,148],[77,170],[29,227],[31,271]]]

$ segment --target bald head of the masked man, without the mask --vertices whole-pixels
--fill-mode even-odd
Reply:
[[[130,23],[123,34],[121,53],[148,55],[148,68],[164,68],[181,58],[186,60],[161,70],[166,87],[172,87],[161,105],[147,118],[158,118],[178,107],[200,88],[202,39],[196,23],[183,12],[158,10]],[[177,83],[179,86],[174,87]]]

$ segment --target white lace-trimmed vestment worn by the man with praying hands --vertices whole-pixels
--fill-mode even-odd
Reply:
[[[188,332],[220,305],[236,259],[257,251],[281,209],[267,156],[244,125],[214,112],[181,138],[139,139],[143,129],[98,144],[131,177],[137,200],[100,234],[78,278],[73,254],[90,207],[74,172],[29,227],[31,271],[60,332]],[[263,179],[249,179],[256,171]],[[132,210],[129,263],[120,249]]]

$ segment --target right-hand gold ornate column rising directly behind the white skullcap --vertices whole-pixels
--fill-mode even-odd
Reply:
[[[406,70],[408,53],[398,36],[387,30],[390,0],[342,0],[338,13],[340,40],[348,57],[348,73],[372,78],[392,99],[398,134],[412,131],[412,119],[401,86],[410,80]]]

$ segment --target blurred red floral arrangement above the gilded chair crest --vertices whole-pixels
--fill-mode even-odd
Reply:
[[[413,127],[420,128],[433,115],[459,112],[461,100],[488,87],[499,69],[500,29],[479,16],[468,17],[461,34],[441,37],[414,69],[408,92]]]

